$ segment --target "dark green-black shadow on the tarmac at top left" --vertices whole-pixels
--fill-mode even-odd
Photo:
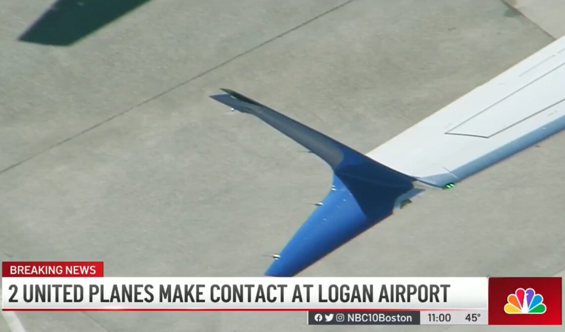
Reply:
[[[18,40],[69,46],[151,0],[58,0]]]

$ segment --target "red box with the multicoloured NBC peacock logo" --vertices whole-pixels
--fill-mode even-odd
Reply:
[[[561,296],[560,277],[489,278],[489,325],[561,325]]]

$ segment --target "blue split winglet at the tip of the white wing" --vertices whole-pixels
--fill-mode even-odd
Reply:
[[[290,276],[392,214],[399,199],[415,195],[412,176],[305,126],[240,93],[210,96],[242,113],[253,114],[328,163],[333,189],[273,262],[267,275]],[[330,222],[331,221],[331,222]]]

